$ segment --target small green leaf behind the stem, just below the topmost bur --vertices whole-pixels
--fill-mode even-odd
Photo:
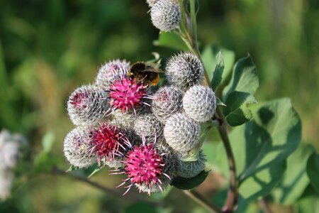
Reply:
[[[155,46],[171,48],[174,50],[189,50],[184,40],[174,31],[172,32],[161,32],[159,33],[158,40],[153,42]]]

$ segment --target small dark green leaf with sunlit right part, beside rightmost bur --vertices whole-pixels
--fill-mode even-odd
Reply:
[[[252,119],[251,104],[257,104],[252,94],[247,92],[230,92],[224,109],[225,118],[230,126],[239,126]]]

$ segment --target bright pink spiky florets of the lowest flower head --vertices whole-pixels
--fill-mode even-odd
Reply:
[[[148,195],[150,195],[150,189],[154,185],[157,185],[162,192],[162,175],[169,178],[169,175],[163,172],[165,166],[163,155],[167,155],[167,153],[159,153],[155,143],[146,145],[145,137],[142,140],[143,143],[140,146],[134,146],[132,150],[128,151],[123,161],[125,168],[122,173],[118,173],[128,175],[128,178],[121,185],[130,181],[130,185],[126,186],[128,190],[124,195],[133,185],[145,186]]]

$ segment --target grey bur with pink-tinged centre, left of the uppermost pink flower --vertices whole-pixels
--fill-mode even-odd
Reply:
[[[108,109],[106,92],[93,85],[75,89],[67,101],[69,118],[76,126],[98,123]]]

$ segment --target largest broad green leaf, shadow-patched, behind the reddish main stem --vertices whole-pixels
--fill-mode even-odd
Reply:
[[[286,170],[286,158],[301,140],[301,120],[289,99],[268,102],[253,111],[254,118],[230,133],[240,195],[256,200],[268,195]],[[208,165],[229,177],[223,143],[209,144]],[[206,149],[206,146],[204,146]],[[215,171],[215,170],[214,170]]]

